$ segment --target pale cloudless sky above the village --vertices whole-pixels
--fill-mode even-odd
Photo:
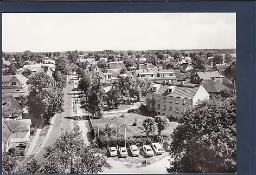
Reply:
[[[2,50],[236,48],[235,13],[2,14]]]

